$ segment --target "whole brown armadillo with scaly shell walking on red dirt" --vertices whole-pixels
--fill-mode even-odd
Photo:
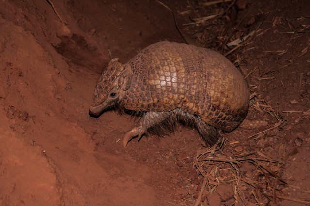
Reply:
[[[98,116],[116,108],[139,116],[124,135],[124,147],[135,136],[172,132],[178,122],[214,144],[222,132],[238,127],[248,107],[248,85],[232,62],[210,49],[163,41],[125,64],[112,59],[94,90],[89,113]]]

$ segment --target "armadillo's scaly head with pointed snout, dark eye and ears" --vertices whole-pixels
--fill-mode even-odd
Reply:
[[[118,58],[112,59],[94,90],[89,114],[97,116],[120,103],[124,92],[130,88],[131,76],[130,65],[121,64]]]

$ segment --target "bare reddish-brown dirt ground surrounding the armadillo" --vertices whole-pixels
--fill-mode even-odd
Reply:
[[[277,158],[286,162],[280,176],[294,187],[279,192],[305,202],[279,198],[266,205],[309,204],[309,2],[247,0],[245,9],[233,5],[226,13],[224,28],[182,26],[194,15],[212,14],[181,13],[192,10],[185,0],[162,2],[176,13],[180,29],[200,43],[215,35],[211,28],[233,28],[242,18],[239,34],[260,27],[227,57],[246,62],[248,81],[257,86],[251,88],[286,124],[258,137],[248,138],[260,130],[240,129],[225,137],[240,142],[235,151],[281,154]],[[169,10],[153,0],[2,0],[0,39],[0,205],[192,205],[186,200],[197,198],[203,180],[192,158],[204,148],[195,131],[179,126],[163,138],[133,139],[124,149],[121,139],[132,118],[114,111],[99,118],[88,114],[109,59],[126,62],[162,40],[184,42]],[[203,46],[227,52],[216,44]],[[268,120],[267,128],[276,123],[252,110],[248,118]],[[242,170],[248,168],[244,163]],[[242,205],[233,195],[233,188],[220,184],[203,194],[201,204]],[[252,200],[247,205],[255,205]]]

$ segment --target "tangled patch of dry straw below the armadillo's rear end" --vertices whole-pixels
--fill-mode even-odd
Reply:
[[[226,156],[227,151],[230,151],[231,155]],[[278,199],[310,204],[307,198],[280,194],[284,187],[299,187],[289,185],[281,178],[286,162],[258,150],[239,154],[231,144],[222,139],[213,147],[197,151],[194,163],[199,175],[204,179],[195,205],[200,202],[204,190],[210,194],[218,185],[227,183],[234,188],[234,204],[248,205],[249,201],[255,201],[259,205],[271,202],[278,204]]]

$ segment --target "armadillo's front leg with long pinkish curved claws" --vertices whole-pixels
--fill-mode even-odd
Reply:
[[[151,127],[160,124],[160,122],[171,117],[171,112],[147,112],[139,121],[138,126],[132,128],[129,132],[125,133],[123,138],[123,147],[126,147],[128,142],[135,136],[138,139]]]

